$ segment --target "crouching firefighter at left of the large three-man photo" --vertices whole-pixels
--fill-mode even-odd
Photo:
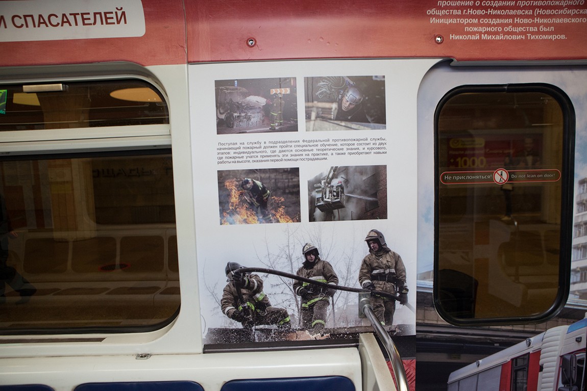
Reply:
[[[227,317],[249,328],[255,325],[277,325],[284,330],[291,329],[288,311],[271,306],[263,293],[263,280],[257,274],[241,273],[243,266],[228,262],[224,272],[228,284],[222,292],[220,305]]]

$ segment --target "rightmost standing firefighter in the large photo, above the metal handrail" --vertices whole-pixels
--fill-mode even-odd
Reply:
[[[387,247],[383,234],[376,229],[365,238],[369,254],[363,258],[359,269],[359,284],[363,289],[377,290],[396,295],[400,304],[407,304],[406,267],[402,257]],[[383,325],[393,323],[396,300],[371,295],[371,305],[377,319]]]

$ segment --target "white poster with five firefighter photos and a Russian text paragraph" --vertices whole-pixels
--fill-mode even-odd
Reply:
[[[372,332],[357,292],[369,235],[393,254],[367,278],[397,287],[381,321],[415,335],[416,213],[402,178],[416,167],[394,151],[416,135],[390,125],[394,62],[194,64],[189,77],[204,344]]]

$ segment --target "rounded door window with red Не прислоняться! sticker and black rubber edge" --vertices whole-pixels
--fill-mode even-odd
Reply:
[[[543,84],[460,87],[438,104],[434,300],[448,322],[538,321],[564,304],[569,107]]]

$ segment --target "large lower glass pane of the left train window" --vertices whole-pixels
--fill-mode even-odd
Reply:
[[[0,161],[0,201],[0,334],[144,330],[173,319],[169,151]]]

